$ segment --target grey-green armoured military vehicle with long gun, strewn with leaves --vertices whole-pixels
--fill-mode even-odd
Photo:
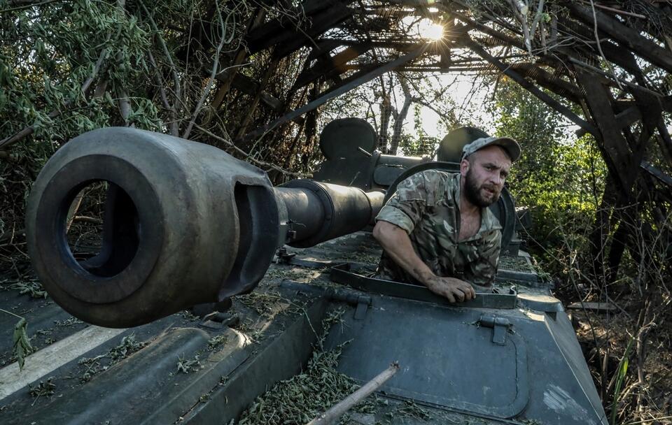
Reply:
[[[373,406],[344,422],[607,424],[570,320],[521,250],[507,191],[491,206],[503,226],[491,293],[450,304],[375,278],[368,230],[386,197],[413,173],[456,170],[479,136],[451,132],[437,161],[393,157],[374,151],[363,120],[337,120],[314,180],[280,187],[172,136],[110,128],[73,139],[30,195],[29,254],[55,303],[25,305],[45,347],[22,371],[0,370],[0,420],[276,423],[264,394],[306,375],[316,352],[337,352],[339,376],[354,384],[398,364]],[[66,228],[92,182],[107,188],[102,241],[81,255]],[[314,402],[284,397],[293,408]],[[299,417],[290,422],[311,419]]]

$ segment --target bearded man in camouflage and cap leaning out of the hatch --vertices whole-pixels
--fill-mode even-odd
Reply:
[[[423,284],[451,303],[489,290],[502,226],[487,207],[518,157],[512,138],[478,138],[463,147],[459,173],[428,170],[400,182],[373,229],[384,250],[379,278]]]

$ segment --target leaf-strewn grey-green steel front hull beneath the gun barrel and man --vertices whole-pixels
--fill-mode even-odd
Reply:
[[[55,368],[39,364],[39,354],[69,336],[83,336],[85,345],[92,326],[50,299],[0,292],[0,308],[25,315],[41,349],[26,360],[41,374],[2,398],[0,422],[228,424],[274,382],[300,373],[320,322],[338,310],[342,319],[324,343],[325,350],[344,344],[338,370],[364,382],[391,361],[401,365],[372,399],[373,410],[351,412],[349,423],[606,423],[573,330],[544,290],[498,282],[501,289],[516,285],[521,303],[538,298],[536,311],[523,304],[504,310],[438,305],[329,279],[325,264],[374,268],[380,251],[368,233],[289,252],[296,254],[290,264],[273,264],[251,294],[234,298],[225,317],[203,321],[180,312],[119,330],[83,354],[62,350],[66,362]],[[300,261],[310,267],[291,264]],[[13,321],[5,316],[0,376],[13,362]],[[53,394],[29,394],[27,384],[36,389],[48,378]]]

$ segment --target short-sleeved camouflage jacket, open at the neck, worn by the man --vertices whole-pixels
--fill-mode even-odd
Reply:
[[[404,229],[415,252],[435,275],[489,287],[497,272],[502,226],[489,208],[483,208],[477,233],[458,241],[459,199],[459,173],[423,171],[399,183],[397,192],[376,219]],[[378,275],[381,279],[419,284],[385,252]]]

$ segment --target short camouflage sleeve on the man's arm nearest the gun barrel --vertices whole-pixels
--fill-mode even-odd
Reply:
[[[399,183],[376,221],[390,222],[410,234],[426,210],[427,196],[425,173],[416,173]]]

